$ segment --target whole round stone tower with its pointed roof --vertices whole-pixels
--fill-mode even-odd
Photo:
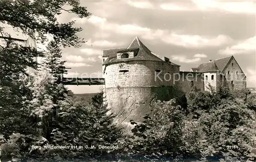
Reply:
[[[127,48],[103,50],[105,103],[119,123],[141,121],[155,100],[172,98],[179,65],[151,52],[136,37]]]

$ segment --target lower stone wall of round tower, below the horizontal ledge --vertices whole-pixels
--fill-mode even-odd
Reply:
[[[122,87],[106,88],[106,102],[117,116],[118,123],[142,121],[150,114],[156,100],[170,100],[172,87]]]

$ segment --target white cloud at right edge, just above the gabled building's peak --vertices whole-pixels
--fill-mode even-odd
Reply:
[[[246,54],[255,52],[256,50],[256,36],[240,41],[235,45],[226,47],[226,49],[219,50],[222,55]]]

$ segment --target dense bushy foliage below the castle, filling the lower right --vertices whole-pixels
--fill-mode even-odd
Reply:
[[[158,101],[152,116],[131,121],[133,136],[118,153],[138,160],[255,160],[255,94],[190,92],[187,111],[175,99]]]

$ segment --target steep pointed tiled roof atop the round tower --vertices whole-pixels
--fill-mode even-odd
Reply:
[[[138,53],[134,58],[129,59],[130,60],[148,60],[148,61],[160,61],[160,62],[165,62],[162,59],[158,58],[157,56],[153,55],[151,50],[148,49],[140,40],[138,37],[135,37],[133,42],[127,47],[127,48],[119,48],[117,49],[109,49],[109,50],[103,50],[103,57],[108,57],[108,56],[113,56],[111,58],[106,59],[106,61],[103,64],[109,64],[113,62],[119,62],[123,60],[117,60],[116,59],[116,54],[119,51],[126,51],[127,50],[138,50]],[[172,65],[176,65],[172,63]],[[178,66],[178,65],[176,65]]]

